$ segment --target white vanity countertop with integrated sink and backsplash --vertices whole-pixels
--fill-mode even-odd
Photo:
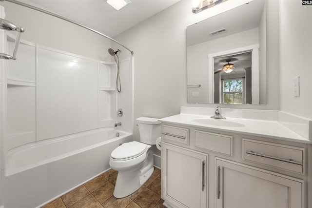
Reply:
[[[226,120],[212,119],[213,107],[181,106],[180,114],[161,122],[312,144],[312,121],[278,110],[221,108]]]

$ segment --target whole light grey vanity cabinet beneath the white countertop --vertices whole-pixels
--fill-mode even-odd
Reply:
[[[161,198],[168,208],[307,208],[306,148],[163,122]]]

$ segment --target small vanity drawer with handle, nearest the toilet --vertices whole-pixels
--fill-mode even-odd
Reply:
[[[162,138],[189,145],[189,129],[171,125],[162,125]]]

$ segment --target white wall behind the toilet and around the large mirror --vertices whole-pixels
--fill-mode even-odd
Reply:
[[[277,1],[278,0],[270,0]],[[229,0],[198,14],[192,13],[190,0],[181,0],[150,19],[143,21],[115,37],[134,50],[135,54],[135,109],[134,118],[140,116],[167,117],[178,114],[181,105],[215,106],[215,104],[187,104],[186,91],[186,27],[214,16],[242,0]],[[247,2],[247,1],[245,1]],[[229,6],[230,7],[230,6]],[[272,11],[271,11],[272,12]],[[268,104],[235,105],[239,108],[278,109],[278,12],[271,13],[267,26],[274,31],[267,36]],[[277,13],[277,19],[274,17]],[[270,19],[271,18],[271,19]],[[275,19],[274,19],[275,18]],[[277,23],[277,24],[276,24]],[[277,83],[278,84],[278,83]],[[273,87],[275,85],[275,87]],[[228,106],[227,106],[228,107]],[[136,123],[135,123],[136,124]],[[135,137],[138,130],[135,127]]]

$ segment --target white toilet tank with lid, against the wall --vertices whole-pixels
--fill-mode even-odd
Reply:
[[[140,141],[148,145],[156,145],[156,139],[161,136],[161,122],[156,118],[137,118]]]

